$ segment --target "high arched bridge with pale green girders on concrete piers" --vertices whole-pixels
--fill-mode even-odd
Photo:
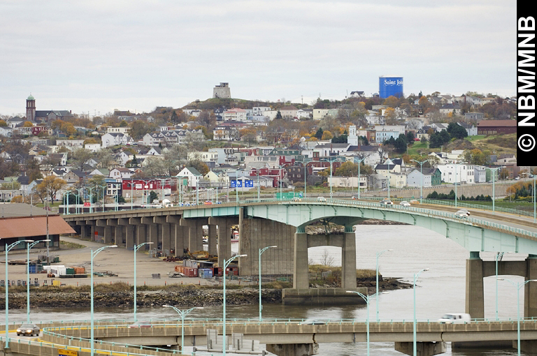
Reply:
[[[443,207],[443,209],[446,209]],[[483,213],[478,213],[483,215]],[[485,214],[486,215],[486,214]],[[438,232],[470,251],[466,261],[466,312],[473,318],[484,317],[483,278],[493,276],[494,262],[483,261],[480,251],[528,253],[525,260],[499,261],[499,274],[537,279],[537,231],[533,223],[520,226],[513,216],[494,215],[460,218],[452,212],[431,206],[383,206],[378,202],[357,200],[302,199],[300,201],[245,200],[218,205],[135,209],[119,212],[69,214],[64,219],[80,231],[81,237],[102,237],[129,249],[134,244],[153,242],[163,251],[198,251],[203,247],[202,227],[208,225],[208,250],[218,255],[218,263],[231,258],[231,226],[238,225],[239,251],[248,257],[239,260],[242,276],[259,273],[258,251],[269,249],[262,259],[264,274],[293,274],[293,287],[283,291],[284,304],[351,304],[359,302],[345,290],[356,288],[356,246],[353,226],[375,218],[417,225]],[[494,222],[505,218],[502,223]],[[310,235],[312,224],[342,225],[341,234]],[[218,239],[218,235],[222,238]],[[357,232],[359,234],[359,230]],[[225,238],[224,238],[225,237]],[[341,288],[308,288],[308,248],[339,246],[342,251]],[[537,283],[524,286],[524,315],[537,317]]]

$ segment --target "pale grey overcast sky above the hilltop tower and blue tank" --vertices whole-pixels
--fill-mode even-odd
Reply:
[[[0,1],[0,114],[105,114],[213,96],[311,103],[420,91],[516,94],[516,2]]]

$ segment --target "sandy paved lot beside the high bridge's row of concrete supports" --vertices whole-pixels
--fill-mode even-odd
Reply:
[[[60,262],[54,265],[65,265],[66,267],[83,266],[88,274],[87,278],[76,279],[60,279],[62,283],[66,285],[90,285],[90,261],[91,250],[95,251],[104,244],[96,242],[82,241],[80,239],[72,237],[61,237],[62,241],[74,242],[76,244],[83,244],[86,247],[83,249],[73,250],[60,250],[50,251],[50,257],[58,256]],[[46,255],[46,249],[31,249],[30,260],[35,260],[38,255]],[[0,264],[3,265],[5,257],[0,254]],[[26,253],[18,251],[10,251],[9,260],[26,260]],[[111,272],[117,274],[117,276],[94,276],[95,283],[114,283],[124,282],[132,284],[134,283],[134,251],[128,251],[124,248],[105,249],[99,252],[94,258],[93,269],[94,272]],[[198,279],[198,278],[169,278],[168,272],[173,272],[176,262],[164,262],[160,258],[150,258],[148,253],[139,252],[136,255],[136,270],[138,285],[169,285],[171,283],[194,283],[194,284],[208,284],[214,285],[217,282]],[[26,280],[26,265],[9,265],[9,279],[10,280]],[[153,279],[152,274],[160,274],[160,279]],[[5,272],[3,268],[0,272],[0,279],[4,279]],[[43,285],[43,280],[47,279],[48,284],[51,284],[51,279],[47,278],[46,274],[30,274],[31,281],[38,279],[40,285]],[[230,281],[233,283],[234,281]]]

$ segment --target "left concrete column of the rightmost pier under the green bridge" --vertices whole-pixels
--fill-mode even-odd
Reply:
[[[466,260],[466,313],[472,318],[485,318],[483,292],[483,260],[479,251],[471,251]]]

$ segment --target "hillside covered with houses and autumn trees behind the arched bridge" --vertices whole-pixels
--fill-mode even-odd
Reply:
[[[149,204],[236,188],[372,191],[480,184],[493,172],[530,177],[533,167],[517,165],[515,115],[514,99],[470,92],[352,91],[310,104],[211,98],[102,117],[36,110],[29,96],[25,117],[1,116],[0,200]]]

